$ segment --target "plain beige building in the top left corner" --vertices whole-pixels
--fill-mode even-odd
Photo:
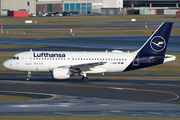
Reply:
[[[6,16],[8,11],[36,13],[36,0],[0,0],[0,15]]]

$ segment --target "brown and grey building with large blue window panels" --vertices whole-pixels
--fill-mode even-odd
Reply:
[[[92,9],[92,0],[37,0],[36,4],[36,11],[52,13],[77,11],[87,14]]]

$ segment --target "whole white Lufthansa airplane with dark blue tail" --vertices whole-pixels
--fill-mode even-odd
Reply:
[[[13,55],[3,67],[14,71],[51,72],[54,79],[67,79],[82,75],[83,82],[89,82],[87,74],[124,72],[176,59],[165,54],[173,22],[164,22],[149,37],[145,44],[134,52],[68,52],[68,51],[27,51]],[[134,40],[134,42],[136,42]]]

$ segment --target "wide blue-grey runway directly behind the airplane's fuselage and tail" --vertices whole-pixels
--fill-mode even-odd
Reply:
[[[0,43],[55,46],[55,48],[57,48],[56,50],[64,49],[67,51],[71,51],[71,50],[82,51],[83,49],[86,51],[89,51],[89,50],[105,51],[107,49],[108,50],[112,50],[112,49],[138,50],[146,42],[148,38],[149,36],[146,36],[146,35],[145,36],[99,36],[99,37],[98,36],[95,36],[95,37],[88,37],[88,36],[85,36],[85,37],[5,37],[5,38],[0,38]],[[171,35],[169,39],[167,51],[180,52],[179,46],[180,46],[180,35]],[[6,51],[6,49],[0,49],[0,50]],[[37,50],[37,48],[33,50]],[[48,50],[50,49],[46,49],[46,51]]]

